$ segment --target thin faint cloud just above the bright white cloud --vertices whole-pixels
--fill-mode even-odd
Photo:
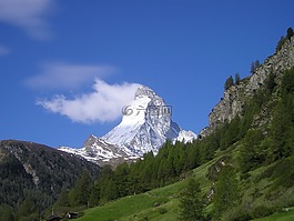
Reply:
[[[82,66],[70,63],[47,63],[41,67],[41,73],[24,81],[33,89],[77,89],[115,72],[110,66]]]

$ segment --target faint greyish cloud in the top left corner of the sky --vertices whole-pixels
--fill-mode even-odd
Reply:
[[[0,0],[0,21],[24,29],[36,39],[48,39],[48,23],[44,17],[53,0]]]

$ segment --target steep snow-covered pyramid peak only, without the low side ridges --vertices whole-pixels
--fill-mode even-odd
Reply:
[[[148,87],[139,87],[134,100],[122,112],[121,123],[102,139],[128,152],[156,153],[166,139],[174,140],[180,132],[180,127],[171,120],[171,107]]]

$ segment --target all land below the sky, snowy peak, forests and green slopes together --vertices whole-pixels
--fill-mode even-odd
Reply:
[[[294,31],[199,132],[145,86],[81,149],[0,141],[0,221],[294,220]]]

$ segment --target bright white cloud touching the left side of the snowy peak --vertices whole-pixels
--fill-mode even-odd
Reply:
[[[139,86],[138,83],[108,84],[102,80],[95,80],[91,93],[74,99],[57,96],[52,100],[39,100],[37,104],[53,113],[67,115],[74,122],[110,122],[122,115],[122,107],[133,100]]]

